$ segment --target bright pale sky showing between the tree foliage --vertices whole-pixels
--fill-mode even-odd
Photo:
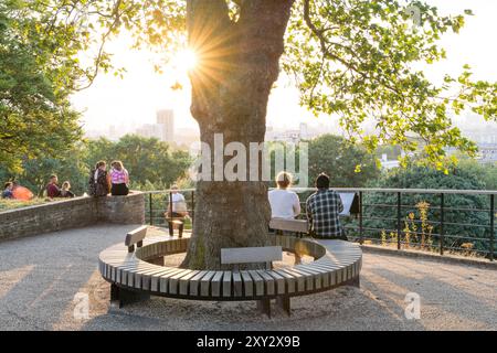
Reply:
[[[497,81],[497,1],[495,0],[427,0],[438,7],[442,14],[458,14],[472,9],[474,17],[458,35],[448,34],[441,45],[447,51],[447,60],[426,67],[429,77],[436,79],[448,73],[457,75],[464,64],[473,67],[475,78]],[[110,43],[109,51],[118,65],[126,67],[124,79],[112,74],[99,74],[94,85],[72,97],[76,109],[83,111],[86,129],[105,129],[109,125],[141,125],[155,122],[158,109],[173,109],[176,127],[197,129],[190,115],[190,88],[184,57],[165,67],[162,75],[154,71],[154,55],[145,51],[129,50],[126,38]],[[171,86],[180,82],[181,90]],[[311,127],[335,126],[331,117],[315,118],[298,105],[298,90],[292,81],[281,75],[273,89],[267,109],[267,125],[274,128],[297,128],[300,122]]]

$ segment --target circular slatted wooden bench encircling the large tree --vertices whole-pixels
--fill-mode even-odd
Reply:
[[[192,300],[263,300],[267,312],[268,300],[276,299],[278,307],[289,313],[290,297],[342,285],[359,286],[362,253],[355,243],[275,235],[274,246],[314,257],[309,264],[275,269],[191,270],[157,265],[157,259],[184,253],[189,240],[189,234],[182,238],[145,237],[138,240],[141,247],[133,253],[127,245],[131,243],[103,250],[98,266],[104,279],[112,284],[112,300],[119,306],[150,295]]]

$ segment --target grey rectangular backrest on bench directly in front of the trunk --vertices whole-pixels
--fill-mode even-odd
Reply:
[[[232,247],[221,249],[221,265],[257,264],[281,261],[281,246]]]

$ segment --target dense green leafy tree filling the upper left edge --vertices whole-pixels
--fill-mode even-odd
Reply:
[[[42,25],[27,1],[1,1],[0,167],[19,172],[23,158],[55,157],[81,138],[70,104],[80,49],[68,25]]]

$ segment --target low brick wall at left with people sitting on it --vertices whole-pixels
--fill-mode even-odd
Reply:
[[[0,240],[84,227],[98,222],[144,224],[144,195],[134,192],[128,196],[77,197],[0,212]]]

